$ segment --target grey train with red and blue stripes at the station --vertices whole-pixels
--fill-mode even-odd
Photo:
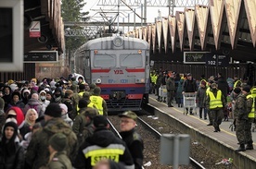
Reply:
[[[101,88],[109,112],[138,111],[148,102],[149,46],[132,37],[104,37],[75,52],[75,69]]]

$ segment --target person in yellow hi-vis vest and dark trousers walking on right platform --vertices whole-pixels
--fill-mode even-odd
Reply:
[[[226,106],[226,100],[221,90],[218,90],[216,83],[211,84],[211,90],[206,96],[206,108],[211,111],[212,115],[212,126],[214,132],[220,132],[220,125],[224,117],[224,107]]]

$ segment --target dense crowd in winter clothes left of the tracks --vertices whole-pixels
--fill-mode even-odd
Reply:
[[[120,115],[117,138],[100,92],[83,77],[0,83],[0,168],[142,168],[136,114]]]

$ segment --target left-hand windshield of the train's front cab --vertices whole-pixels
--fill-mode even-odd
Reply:
[[[114,54],[95,54],[94,66],[112,67],[116,66],[116,56]]]

